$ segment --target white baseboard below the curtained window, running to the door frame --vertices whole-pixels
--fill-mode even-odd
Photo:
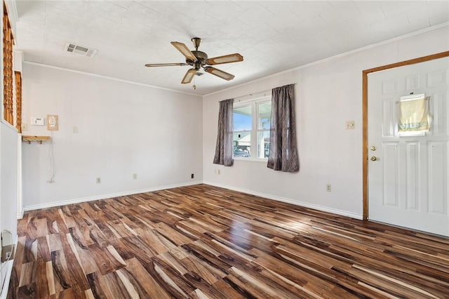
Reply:
[[[203,183],[207,184],[207,185],[216,186],[216,187],[226,188],[226,189],[229,189],[229,190],[234,190],[234,191],[237,191],[237,192],[248,193],[248,194],[251,194],[251,195],[255,195],[257,197],[264,197],[266,199],[273,199],[273,200],[276,200],[276,201],[286,202],[287,204],[294,204],[295,206],[303,206],[305,208],[314,208],[315,210],[328,212],[328,213],[333,213],[333,214],[342,215],[342,216],[347,216],[347,217],[355,218],[355,219],[358,219],[358,220],[362,220],[363,219],[363,215],[361,215],[361,214],[352,213],[352,212],[348,212],[348,211],[343,211],[343,210],[339,210],[337,208],[329,208],[328,206],[320,206],[318,204],[310,204],[310,203],[305,202],[305,201],[297,201],[297,200],[288,199],[288,198],[285,198],[285,197],[277,197],[276,195],[272,195],[272,194],[266,194],[266,193],[256,192],[256,191],[253,191],[253,190],[238,188],[238,187],[234,187],[234,186],[227,186],[227,185],[217,184],[216,182],[204,181]]]

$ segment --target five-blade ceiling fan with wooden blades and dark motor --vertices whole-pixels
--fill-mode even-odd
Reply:
[[[201,39],[199,37],[194,37],[192,39],[192,42],[194,43],[195,47],[194,51],[190,51],[185,44],[182,44],[180,42],[172,41],[170,43],[175,48],[177,48],[177,51],[180,51],[181,54],[185,56],[185,62],[149,63],[145,65],[145,67],[171,67],[171,66],[191,65],[192,69],[189,69],[187,73],[185,73],[184,78],[182,78],[181,81],[182,84],[189,84],[194,78],[196,72],[198,72],[201,69],[201,67],[203,67],[204,71],[208,72],[209,74],[213,74],[227,81],[234,79],[235,76],[233,74],[229,74],[215,67],[210,67],[210,65],[222,65],[223,63],[243,61],[242,55],[240,55],[239,53],[234,53],[229,55],[217,56],[214,58],[208,58],[208,55],[206,53],[198,51]]]

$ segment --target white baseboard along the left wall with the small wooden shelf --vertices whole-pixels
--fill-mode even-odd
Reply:
[[[94,201],[94,200],[100,200],[100,199],[110,199],[112,197],[125,197],[127,195],[133,195],[133,194],[139,194],[139,193],[145,193],[145,192],[153,192],[158,190],[166,190],[166,189],[173,189],[177,187],[185,187],[185,186],[191,186],[191,185],[198,185],[202,184],[203,181],[195,181],[195,182],[183,182],[181,184],[175,184],[175,185],[166,185],[166,186],[158,186],[158,187],[152,187],[152,188],[146,188],[146,189],[140,189],[140,190],[130,190],[125,192],[117,192],[112,194],[102,194],[102,195],[96,195],[95,197],[83,197],[78,199],[67,199],[62,201],[53,201],[45,204],[34,204],[32,206],[25,206],[25,211],[32,211],[32,210],[38,210],[39,208],[52,208],[53,206],[65,206],[66,204],[79,204],[81,202],[85,201]],[[22,215],[23,217],[23,215]]]

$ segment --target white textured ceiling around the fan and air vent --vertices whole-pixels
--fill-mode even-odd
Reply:
[[[204,95],[449,21],[449,1],[15,1],[25,60]],[[170,41],[243,62],[180,84],[188,66]],[[98,49],[67,53],[67,42]]]

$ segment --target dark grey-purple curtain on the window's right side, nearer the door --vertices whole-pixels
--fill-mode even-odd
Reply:
[[[269,134],[268,168],[275,171],[300,171],[297,155],[294,85],[272,90],[272,121]]]

